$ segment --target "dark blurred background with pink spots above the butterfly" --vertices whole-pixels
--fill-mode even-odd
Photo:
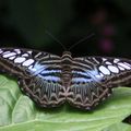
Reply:
[[[0,0],[0,47],[131,58],[131,0]]]

